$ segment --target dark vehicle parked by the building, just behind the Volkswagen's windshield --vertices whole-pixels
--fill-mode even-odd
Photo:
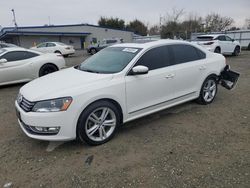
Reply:
[[[120,39],[120,38],[103,39],[101,43],[89,45],[87,48],[87,51],[89,54],[94,55],[95,53],[99,52],[100,50],[108,46],[119,44],[119,43],[123,43],[123,39]]]

